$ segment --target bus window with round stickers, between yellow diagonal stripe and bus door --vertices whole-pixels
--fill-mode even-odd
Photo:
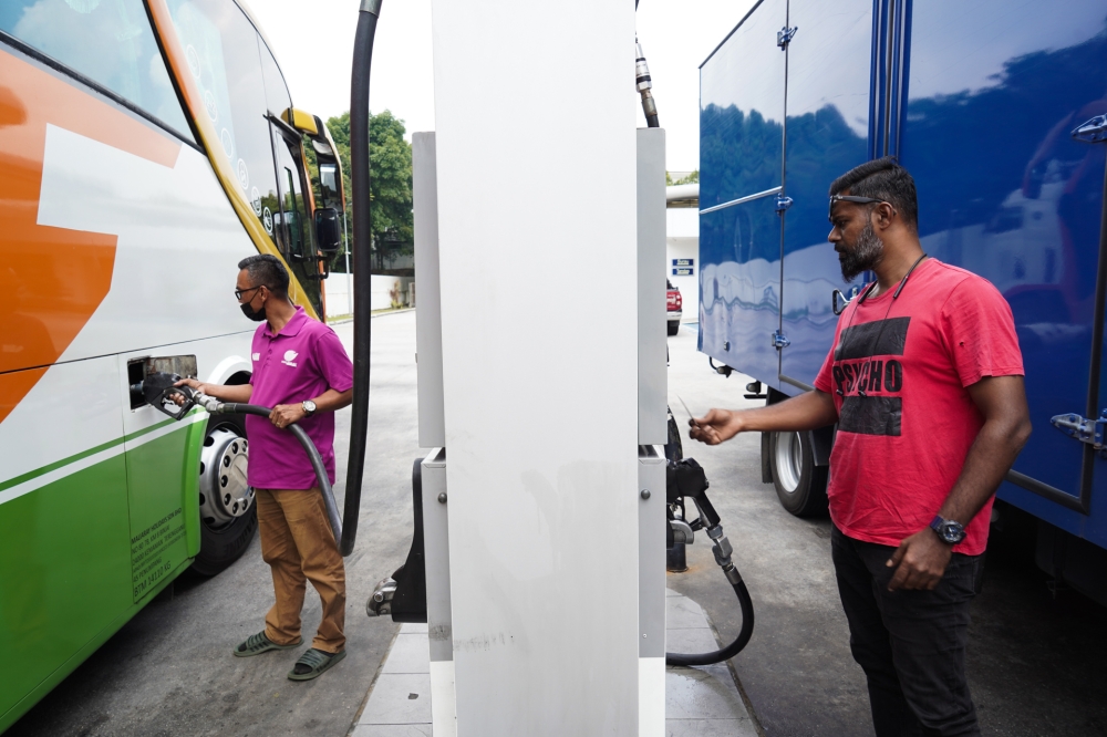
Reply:
[[[221,153],[266,232],[277,243],[280,216],[258,33],[238,7],[218,0],[168,0],[189,71],[219,132]]]

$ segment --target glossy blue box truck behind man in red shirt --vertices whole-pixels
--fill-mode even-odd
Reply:
[[[860,287],[827,188],[897,156],[923,250],[1014,314],[1034,434],[999,498],[1036,518],[1038,565],[1103,603],[1105,137],[1107,0],[762,0],[701,66],[700,350],[767,402],[810,391]],[[789,511],[825,508],[832,442],[763,437]]]

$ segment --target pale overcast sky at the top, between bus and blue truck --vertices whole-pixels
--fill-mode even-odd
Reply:
[[[700,166],[699,66],[755,0],[641,0],[638,33],[662,127],[669,169]],[[248,0],[280,62],[297,107],[322,118],[350,107],[358,0]],[[629,2],[629,0],[628,0]],[[632,46],[628,45],[628,53]],[[535,60],[536,64],[541,59]],[[627,80],[627,94],[634,82]],[[431,0],[385,0],[373,50],[370,105],[413,131],[434,129]],[[639,123],[645,125],[639,108]]]

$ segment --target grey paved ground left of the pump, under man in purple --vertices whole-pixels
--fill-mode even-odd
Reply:
[[[350,324],[337,326],[343,340]],[[349,347],[348,347],[349,350]],[[237,658],[230,650],[259,631],[272,603],[257,538],[230,569],[210,580],[179,580],[139,612],[9,733],[68,737],[193,735],[345,735],[400,625],[370,620],[373,585],[403,563],[411,544],[411,461],[415,419],[415,314],[373,320],[370,437],[358,546],[346,559],[350,655],[318,681],[284,676],[298,651]],[[349,409],[338,418],[341,507]],[[319,622],[310,589],[304,632]]]

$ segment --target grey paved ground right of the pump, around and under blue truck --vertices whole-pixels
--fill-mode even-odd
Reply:
[[[669,339],[670,404],[683,409],[754,405],[748,378],[712,374],[694,329]],[[1049,432],[1037,428],[1036,432]],[[830,563],[828,519],[801,520],[761,482],[759,440],[714,448],[685,435],[711,480],[711,499],[736,550],[756,609],[749,645],[734,661],[765,734],[871,735],[868,696],[849,654],[849,634]],[[993,533],[984,591],[973,603],[969,679],[984,735],[1107,735],[1107,609],[1074,592],[1054,599],[1033,549],[1008,525]],[[734,594],[699,539],[687,573],[669,585],[702,604],[724,639],[741,622]]]

